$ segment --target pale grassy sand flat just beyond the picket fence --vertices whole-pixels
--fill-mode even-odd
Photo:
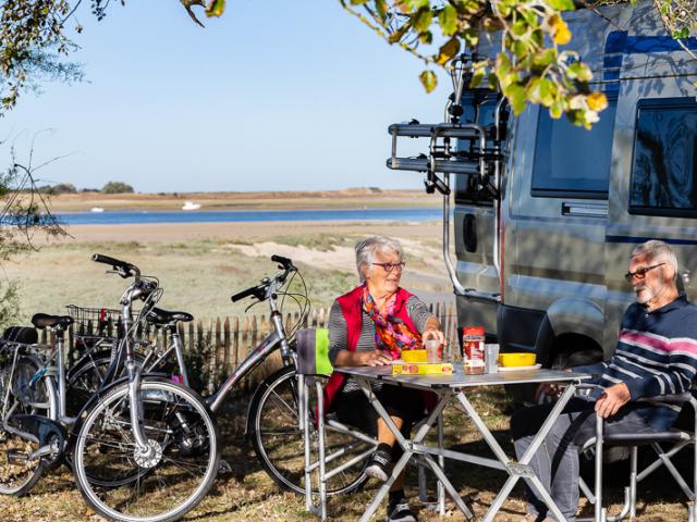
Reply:
[[[132,262],[144,274],[156,275],[164,288],[160,300],[162,308],[184,310],[197,319],[207,320],[243,314],[249,301],[232,303],[230,296],[277,272],[277,264],[269,260],[269,256],[248,256],[239,247],[264,243],[297,247],[298,256],[309,254],[307,262],[296,260],[296,264],[305,276],[313,307],[327,308],[337,296],[356,284],[353,254],[348,251],[356,237],[316,233],[305,236],[278,235],[242,243],[223,238],[197,238],[169,243],[132,240],[53,244],[42,247],[38,252],[7,262],[3,269],[8,278],[19,281],[19,315],[23,323],[27,323],[36,312],[64,313],[64,307],[71,303],[118,308],[126,282],[114,274],[106,274],[106,265],[91,262],[90,257],[95,252]],[[405,275],[405,286],[413,291],[419,288],[447,290],[447,286],[419,286],[417,279],[414,279],[415,284],[409,281],[417,270],[437,272],[420,258],[428,254],[419,247],[419,243],[413,243],[415,246],[411,247],[408,257],[412,272],[407,271]],[[335,247],[343,248],[341,253],[346,258],[345,262],[321,268],[310,261],[331,257]],[[295,310],[290,308],[286,311]],[[268,314],[268,310],[266,307],[257,307],[252,313]]]

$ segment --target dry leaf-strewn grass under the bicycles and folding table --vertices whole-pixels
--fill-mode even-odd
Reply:
[[[480,412],[506,452],[511,455],[512,448],[508,433],[509,414],[504,406],[501,406],[506,403],[503,389],[492,387],[473,397],[475,408]],[[228,410],[221,417],[223,458],[231,465],[232,472],[219,475],[212,492],[185,520],[211,522],[316,520],[314,515],[305,512],[302,497],[279,490],[257,463],[254,451],[244,437],[247,399],[245,396],[237,396],[231,400]],[[445,410],[445,440],[454,449],[484,457],[491,456],[472,423],[467,421],[462,411],[454,407]],[[677,461],[680,462],[681,459]],[[622,489],[619,485],[627,476],[624,468],[625,465],[621,464],[606,471],[606,483],[609,484],[606,495],[611,506],[611,512],[616,512],[619,509],[622,496]],[[409,470],[407,493],[414,497],[413,502],[416,506],[416,473],[414,469]],[[447,463],[447,473],[455,488],[466,498],[477,520],[484,517],[506,476],[497,470],[454,461]],[[431,494],[433,485],[435,481],[429,475],[429,492]],[[331,497],[329,519],[357,520],[375,493],[376,484],[368,483],[366,487],[348,496]],[[681,492],[667,478],[667,475],[658,473],[639,487],[639,512],[636,520],[644,522],[686,520],[686,508],[681,504]],[[521,488],[517,487],[496,520],[499,522],[519,521],[524,510],[525,502]],[[0,498],[0,513],[2,513],[3,522],[101,520],[83,502],[65,468],[42,477],[27,497]],[[383,513],[384,507],[380,507],[378,520],[383,517]],[[589,512],[586,511],[586,514]],[[442,519],[430,509],[420,508],[419,520]],[[448,520],[465,520],[452,502],[448,504]]]

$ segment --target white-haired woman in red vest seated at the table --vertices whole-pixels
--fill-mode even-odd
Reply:
[[[443,344],[438,320],[414,295],[400,287],[404,270],[396,239],[375,236],[356,245],[362,284],[338,298],[329,314],[329,358],[334,366],[378,366],[399,359],[402,350],[419,349],[428,338]],[[424,415],[419,391],[377,383],[376,396],[400,431],[408,436]],[[326,387],[326,401],[339,419],[378,438],[366,468],[369,476],[387,481],[402,449],[355,381],[334,372]],[[415,521],[404,496],[403,476],[390,489],[388,521]]]

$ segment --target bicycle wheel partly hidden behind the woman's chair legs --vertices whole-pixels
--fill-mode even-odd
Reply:
[[[310,401],[310,412],[315,403]],[[368,446],[352,435],[326,425],[326,451],[344,449],[345,455],[331,461],[330,469],[346,462]],[[297,380],[294,366],[282,368],[268,376],[256,389],[249,406],[247,433],[261,468],[280,487],[305,494],[305,450],[297,418]],[[313,435],[317,446],[317,436]],[[317,449],[317,448],[315,448]],[[359,487],[366,480],[365,461],[331,477],[327,484],[330,495],[343,494]],[[314,486],[316,487],[316,482]]]

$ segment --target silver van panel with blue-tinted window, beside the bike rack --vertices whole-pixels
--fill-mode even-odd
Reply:
[[[528,108],[516,126],[506,195],[503,310],[536,310],[541,324],[547,316],[548,336],[567,335],[568,346],[546,339],[545,349],[537,331],[518,341],[522,347],[531,343],[530,349],[537,346],[548,363],[557,355],[542,351],[575,351],[579,345],[597,349],[602,341],[603,244],[616,97],[609,94],[609,101],[591,130],[566,119],[553,120],[537,107]],[[501,316],[500,328],[515,326],[516,313]]]

